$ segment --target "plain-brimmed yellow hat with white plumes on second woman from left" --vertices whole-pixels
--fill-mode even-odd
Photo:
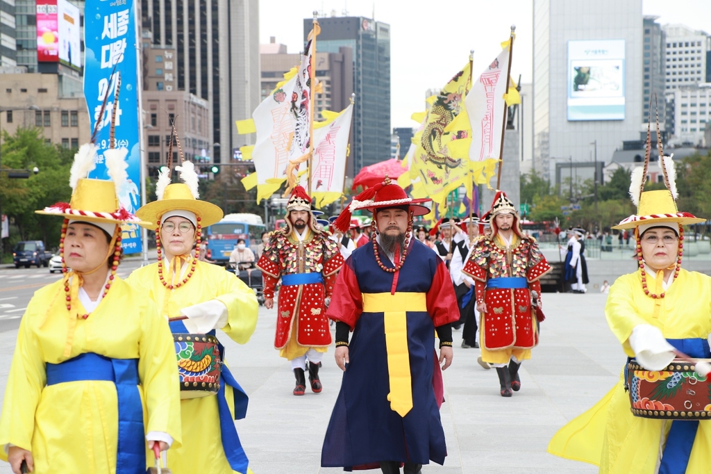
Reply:
[[[156,230],[156,223],[161,220],[163,214],[177,210],[192,212],[200,218],[200,224],[203,227],[218,223],[225,214],[219,206],[198,199],[198,175],[193,163],[183,162],[176,169],[180,172],[181,179],[186,181],[185,184],[167,184],[170,182],[170,172],[169,170],[161,172],[158,184],[156,184],[158,201],[149,202],[136,211],[139,218],[150,223],[144,227],[151,231]]]

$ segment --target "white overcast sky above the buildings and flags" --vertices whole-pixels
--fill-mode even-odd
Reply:
[[[575,1],[575,0],[571,0]],[[626,0],[620,0],[626,1]],[[479,74],[501,51],[510,26],[516,26],[511,75],[530,83],[533,70],[533,0],[260,0],[260,42],[286,44],[289,53],[304,47],[303,19],[314,9],[326,16],[373,17],[390,24],[390,122],[414,127],[412,112],[424,110],[429,88],[441,88],[474,49]],[[658,23],[683,23],[711,33],[711,0],[643,0],[643,14]],[[318,51],[318,38],[316,50]]]

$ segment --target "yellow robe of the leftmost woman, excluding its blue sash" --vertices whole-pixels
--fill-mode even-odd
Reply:
[[[112,381],[46,386],[46,364],[94,352],[138,358],[145,432],[162,431],[180,445],[175,416],[180,392],[170,330],[156,305],[124,280],[87,317],[80,302],[67,312],[60,280],[38,290],[20,323],[0,416],[0,458],[8,443],[31,451],[36,474],[116,472],[118,404]],[[146,460],[154,457],[146,446]],[[152,463],[151,463],[152,465]]]

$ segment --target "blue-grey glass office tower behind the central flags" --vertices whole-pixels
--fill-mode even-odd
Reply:
[[[320,18],[316,52],[353,51],[353,161],[348,176],[390,157],[390,26],[363,17]],[[313,19],[304,19],[304,40]]]

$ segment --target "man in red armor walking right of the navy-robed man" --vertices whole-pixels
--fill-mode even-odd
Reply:
[[[538,344],[539,278],[550,265],[535,239],[521,231],[506,193],[496,191],[490,212],[491,236],[476,241],[462,271],[474,278],[476,310],[483,315],[481,359],[496,367],[501,396],[508,397],[520,390],[518,369]]]

